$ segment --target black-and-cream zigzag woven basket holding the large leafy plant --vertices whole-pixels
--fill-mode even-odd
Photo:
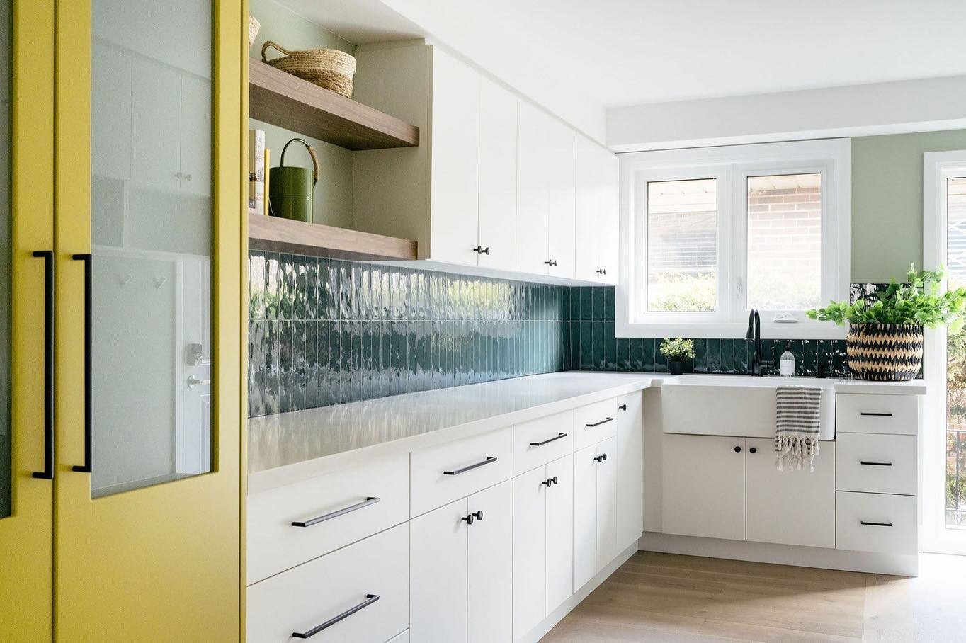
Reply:
[[[856,379],[907,381],[923,368],[923,326],[853,323],[845,338],[848,368]]]

